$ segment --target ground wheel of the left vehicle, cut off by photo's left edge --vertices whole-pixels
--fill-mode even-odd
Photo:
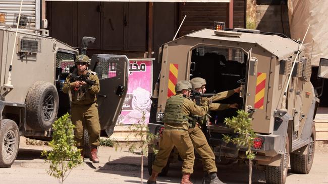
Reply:
[[[13,120],[1,120],[0,127],[0,167],[10,167],[19,149],[18,126]]]

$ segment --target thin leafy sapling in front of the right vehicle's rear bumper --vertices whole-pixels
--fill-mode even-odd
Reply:
[[[252,160],[255,158],[255,154],[251,148],[253,146],[253,140],[256,137],[254,130],[252,129],[251,119],[249,113],[238,110],[237,117],[226,118],[225,123],[229,128],[232,128],[238,137],[231,137],[229,135],[223,135],[223,140],[227,143],[232,142],[238,146],[246,146],[246,156],[249,159],[249,184],[252,183]]]

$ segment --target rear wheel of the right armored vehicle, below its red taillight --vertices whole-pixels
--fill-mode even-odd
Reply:
[[[286,135],[284,153],[281,155],[280,166],[265,166],[265,180],[268,184],[284,184],[287,178],[289,164],[289,139]]]

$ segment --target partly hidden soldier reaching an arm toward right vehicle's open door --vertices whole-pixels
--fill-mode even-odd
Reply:
[[[195,77],[190,80],[190,83],[192,84],[192,88],[194,91],[198,91],[200,93],[205,93],[206,88],[206,81],[203,78],[200,77]],[[211,101],[215,102],[218,100],[223,100],[226,99],[230,96],[232,96],[234,93],[239,93],[240,88],[232,89],[229,91],[224,91],[221,93],[216,94],[213,96]],[[211,103],[209,105],[209,110],[210,111],[218,111],[218,110],[224,110],[227,108],[237,108],[238,104],[218,104],[218,103]],[[197,153],[201,156],[202,158],[202,163],[204,167],[204,177],[203,177],[203,184],[218,184],[218,183],[223,183],[220,179],[218,179],[216,172],[217,168],[215,165],[215,155],[210,148],[210,146],[207,143],[206,137],[204,133],[200,129],[200,125],[202,122],[204,122],[205,117],[194,117],[196,118],[196,121],[198,122],[195,126],[195,128],[190,128],[189,131],[189,136],[190,139],[193,143],[194,148],[196,149]]]

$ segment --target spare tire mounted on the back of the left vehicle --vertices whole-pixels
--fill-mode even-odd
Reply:
[[[45,81],[35,82],[28,90],[25,104],[28,126],[48,130],[57,118],[59,98],[56,86]]]

